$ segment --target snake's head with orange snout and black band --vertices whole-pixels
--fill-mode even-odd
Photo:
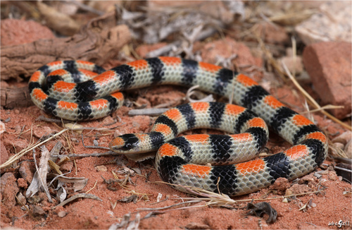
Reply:
[[[140,152],[149,152],[149,145],[145,142],[145,133],[140,134],[125,134],[119,135],[117,138],[113,139],[109,144],[109,148],[113,152],[118,152],[121,154],[128,153],[140,153]]]

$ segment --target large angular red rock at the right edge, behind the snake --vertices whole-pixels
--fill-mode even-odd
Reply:
[[[338,119],[351,116],[351,43],[319,42],[303,51],[303,64],[322,104],[343,105],[332,109]]]

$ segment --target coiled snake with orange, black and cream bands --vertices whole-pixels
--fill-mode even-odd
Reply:
[[[304,176],[327,157],[327,136],[312,121],[249,76],[211,63],[159,56],[106,71],[88,61],[54,61],[29,80],[30,96],[39,109],[72,121],[108,116],[122,106],[120,91],[151,85],[199,85],[237,104],[181,104],[159,116],[149,133],[127,133],[111,141],[110,149],[121,154],[156,151],[156,171],[178,190],[187,192],[191,186],[244,195],[280,177]],[[258,152],[268,142],[267,125],[292,146],[260,158]],[[194,128],[229,134],[177,137]]]

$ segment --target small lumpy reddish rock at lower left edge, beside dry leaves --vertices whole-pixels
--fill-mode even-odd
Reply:
[[[1,205],[13,207],[16,204],[15,195],[20,188],[18,188],[16,178],[12,173],[8,172],[1,176],[0,190],[2,195]]]

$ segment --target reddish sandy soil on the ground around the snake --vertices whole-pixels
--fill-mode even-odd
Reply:
[[[139,104],[147,104],[147,107],[155,106],[156,104],[169,103],[173,100],[184,97],[187,89],[184,87],[161,86],[149,87],[147,89],[137,90],[138,92],[130,92],[127,98],[130,101],[138,102]],[[275,97],[279,97],[282,102],[289,104],[296,111],[303,111],[303,98],[294,96],[291,93],[291,88],[287,86],[279,86],[275,89]],[[139,96],[137,96],[139,95]],[[113,135],[121,133],[137,133],[149,131],[151,123],[155,120],[149,116],[134,116],[130,117],[127,112],[131,108],[122,107],[116,111],[108,119],[100,119],[98,121],[80,122],[84,127],[105,127],[114,128],[115,131],[84,131],[84,144],[93,145],[94,140],[97,140],[99,146],[107,147]],[[19,116],[20,115],[20,116]],[[23,109],[1,110],[1,121],[10,119],[6,125],[6,132],[1,134],[1,141],[6,146],[9,155],[15,153],[13,146],[18,147],[20,143],[28,144],[30,142],[30,128],[33,128],[34,135],[40,137],[40,131],[61,131],[61,124],[54,124],[46,121],[36,121],[37,117],[45,115],[37,107],[28,107]],[[117,119],[119,118],[119,119]],[[318,126],[323,128],[327,133],[343,132],[344,130],[335,123],[328,121],[319,114],[314,115],[318,121]],[[108,126],[104,124],[111,123],[113,119],[117,121]],[[21,135],[20,129],[25,126]],[[196,133],[197,131],[192,131]],[[203,131],[198,131],[203,132]],[[187,132],[191,133],[191,132]],[[67,139],[61,135],[56,140],[50,140],[46,143],[46,147],[51,150],[57,141],[61,141],[65,147],[63,153],[94,153],[105,152],[106,150],[90,149],[82,146],[80,134],[75,132],[66,133],[66,137],[70,140],[73,147],[72,152],[68,147]],[[34,140],[38,137],[34,136]],[[270,135],[270,143],[267,145],[270,153],[275,153],[289,147],[277,135]],[[37,159],[40,158],[39,150],[36,153]],[[30,162],[30,167],[34,168],[32,162],[32,153],[25,155],[20,161]],[[332,162],[326,161],[329,165]],[[19,164],[18,164],[19,165]],[[104,165],[106,169],[98,169],[97,166]],[[111,190],[103,178],[113,179],[112,172],[118,174],[119,178],[125,178],[125,174],[121,173],[121,169],[135,169],[130,175],[131,181],[127,182],[127,186],[113,186]],[[48,202],[44,193],[39,193],[39,198],[43,200],[35,204],[44,210],[44,214],[34,216],[31,210],[23,210],[20,205],[8,207],[1,202],[1,228],[15,227],[15,229],[107,229],[112,224],[122,222],[122,219],[130,217],[127,224],[135,224],[139,229],[339,229],[338,226],[329,226],[332,223],[337,223],[340,220],[349,224],[342,226],[341,229],[351,229],[351,184],[341,181],[336,176],[334,171],[329,171],[325,166],[317,171],[325,171],[321,178],[313,176],[314,172],[308,176],[307,180],[300,180],[298,183],[303,184],[308,190],[322,190],[321,193],[312,193],[308,195],[298,196],[296,199],[291,199],[290,202],[282,202],[284,191],[279,193],[272,192],[270,188],[260,190],[258,193],[242,195],[235,197],[237,200],[232,208],[225,207],[209,207],[205,206],[205,202],[200,202],[191,205],[181,205],[171,207],[166,210],[160,210],[152,217],[146,215],[151,210],[141,210],[150,208],[166,207],[182,202],[180,198],[187,198],[189,195],[181,193],[165,184],[158,184],[161,181],[153,168],[153,161],[146,160],[142,163],[132,162],[124,156],[108,156],[108,157],[84,157],[75,159],[74,162],[67,162],[61,166],[63,173],[72,170],[66,176],[88,178],[87,186],[82,191],[73,192],[72,185],[67,184],[68,197],[77,193],[84,193],[89,190],[89,193],[98,196],[102,201],[80,198],[68,203],[64,207],[57,207],[56,190],[54,186],[49,187],[51,195],[54,197],[54,203]],[[20,175],[18,170],[13,171],[20,184]],[[139,172],[140,171],[140,172]],[[1,171],[4,173],[5,171]],[[102,178],[103,177],[103,178]],[[297,181],[296,181],[297,182]],[[27,184],[23,186],[21,183],[20,191],[25,193]],[[292,182],[289,183],[291,186]],[[92,190],[91,190],[92,189]],[[293,189],[293,188],[292,188]],[[350,193],[344,195],[344,192]],[[268,193],[270,192],[270,193]],[[268,194],[267,194],[268,193]],[[137,202],[120,202],[122,198],[132,194],[137,194]],[[162,195],[157,202],[158,196]],[[249,212],[245,209],[247,203],[251,199],[260,199],[263,196],[268,200],[255,200],[254,203],[266,201],[269,202],[272,208],[277,210],[277,221],[274,224],[267,224],[263,218],[249,216]],[[167,200],[165,200],[165,198]],[[309,204],[306,209],[300,210],[303,205]],[[28,203],[27,203],[28,205]],[[181,208],[182,207],[182,208]],[[125,215],[125,216],[124,216]],[[140,217],[140,219],[139,219]],[[127,218],[128,219],[128,218]],[[135,222],[134,222],[135,221]],[[122,226],[127,228],[127,225]]]

